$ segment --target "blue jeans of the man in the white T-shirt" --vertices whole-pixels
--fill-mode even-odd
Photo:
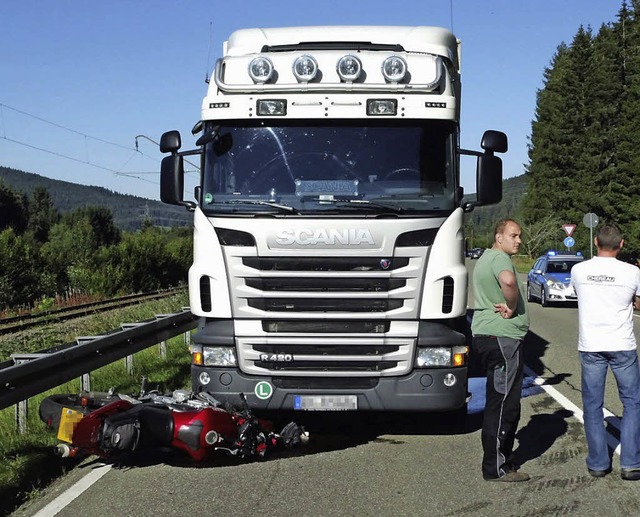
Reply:
[[[610,367],[618,383],[622,402],[620,468],[640,468],[640,367],[635,350],[625,352],[580,352],[582,363],[582,406],[589,454],[587,467],[611,468],[604,427],[604,392]]]

